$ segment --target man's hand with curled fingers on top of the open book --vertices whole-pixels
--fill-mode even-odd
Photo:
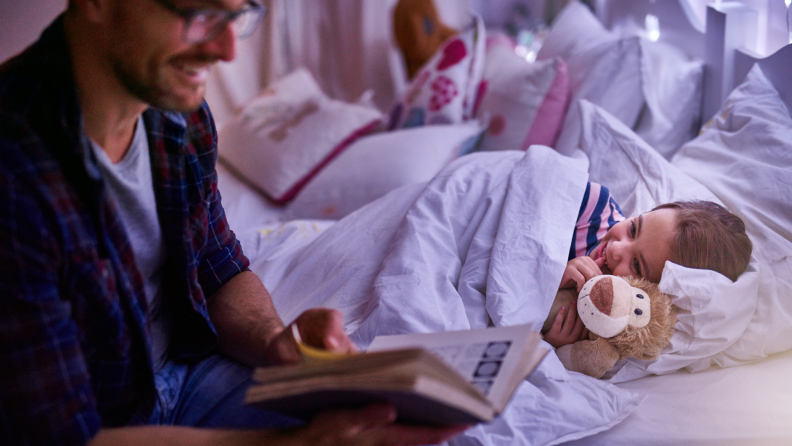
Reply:
[[[313,308],[301,314],[297,325],[303,342],[311,347],[337,353],[354,353],[357,347],[344,333],[343,316],[337,310]],[[266,347],[270,364],[289,364],[300,361],[300,351],[292,335],[291,325],[284,328]]]

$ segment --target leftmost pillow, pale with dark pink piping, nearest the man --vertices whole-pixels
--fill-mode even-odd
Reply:
[[[334,157],[382,122],[375,108],[327,97],[298,69],[245,105],[218,134],[226,166],[285,204]]]

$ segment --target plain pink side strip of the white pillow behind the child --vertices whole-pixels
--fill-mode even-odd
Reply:
[[[531,124],[531,130],[525,136],[522,149],[528,150],[533,144],[554,147],[561,125],[566,116],[569,103],[569,73],[563,60],[556,63],[556,75],[547,91],[542,104],[536,110],[536,117]]]

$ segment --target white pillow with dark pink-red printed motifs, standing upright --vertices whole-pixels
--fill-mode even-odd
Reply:
[[[459,124],[475,116],[484,68],[484,22],[448,39],[413,77],[391,108],[389,130],[427,124]]]

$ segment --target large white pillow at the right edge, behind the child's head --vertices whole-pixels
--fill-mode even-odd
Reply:
[[[716,355],[755,361],[792,348],[792,118],[757,65],[672,164],[707,185],[746,224],[759,300],[748,329]]]

